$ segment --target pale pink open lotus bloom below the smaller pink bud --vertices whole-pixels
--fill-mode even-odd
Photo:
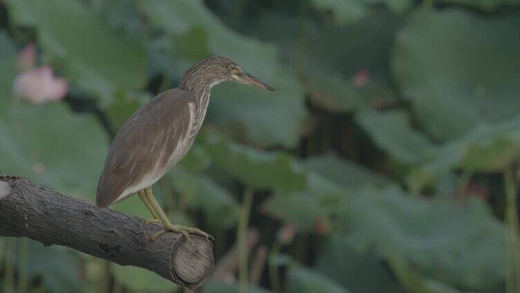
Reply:
[[[67,92],[66,80],[54,77],[50,66],[27,70],[15,79],[15,93],[32,104],[62,100]]]

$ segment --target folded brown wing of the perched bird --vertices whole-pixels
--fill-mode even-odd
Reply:
[[[98,207],[131,195],[136,187],[154,184],[171,167],[169,159],[174,152],[184,152],[175,154],[177,160],[182,158],[187,148],[179,149],[178,145],[189,135],[195,107],[196,98],[191,93],[169,90],[154,97],[124,123],[106,155],[97,185]]]

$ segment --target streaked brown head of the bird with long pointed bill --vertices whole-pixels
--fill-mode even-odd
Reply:
[[[276,88],[263,82],[261,79],[246,73],[239,64],[226,57],[212,57],[204,59],[189,68],[180,81],[179,88],[192,89],[198,86],[216,86],[221,82],[240,82],[250,86],[277,91]]]

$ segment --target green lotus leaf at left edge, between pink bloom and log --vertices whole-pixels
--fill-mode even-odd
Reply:
[[[0,169],[93,200],[107,138],[90,115],[64,104],[12,107],[0,118]]]

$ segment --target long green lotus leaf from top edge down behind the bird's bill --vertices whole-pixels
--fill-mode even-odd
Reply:
[[[272,95],[257,88],[221,86],[214,91],[212,99],[212,106],[220,110],[214,111],[213,121],[223,126],[239,124],[250,139],[262,144],[286,147],[297,144],[301,120],[306,116],[303,91],[294,75],[277,61],[275,46],[241,36],[225,27],[200,0],[142,0],[140,5],[154,26],[169,33],[176,50],[187,53],[183,55],[185,58],[232,57],[245,70],[250,68],[254,75],[281,92]],[[194,37],[194,32],[199,34]],[[189,47],[182,43],[187,40],[192,41]],[[252,52],[254,57],[250,55]],[[264,119],[266,115],[275,119]]]

